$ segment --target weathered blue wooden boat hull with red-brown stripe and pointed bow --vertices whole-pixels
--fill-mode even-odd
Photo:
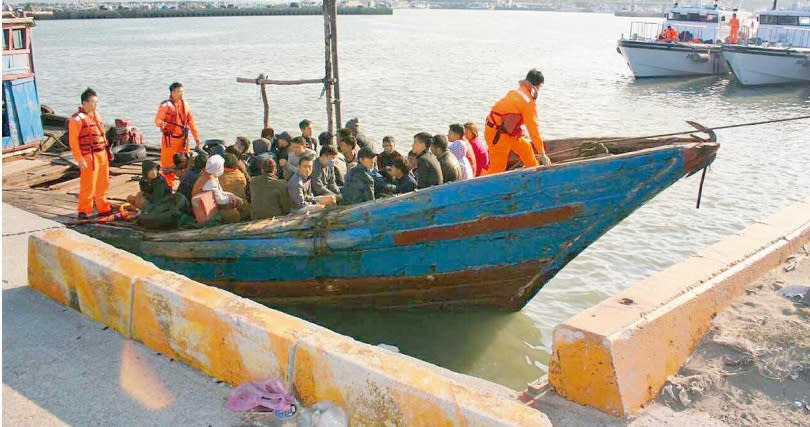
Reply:
[[[311,215],[202,230],[83,231],[272,306],[521,309],[588,245],[708,166],[714,135],[547,141],[554,165]]]

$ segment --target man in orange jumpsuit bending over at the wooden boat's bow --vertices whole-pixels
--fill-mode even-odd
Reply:
[[[534,150],[544,165],[551,164],[537,125],[537,91],[544,81],[543,73],[536,69],[530,70],[526,79],[520,81],[520,87],[509,91],[492,107],[484,129],[490,156],[487,175],[505,171],[512,151],[520,157],[525,167],[539,164]],[[523,137],[521,125],[525,125],[529,131],[531,143]]]

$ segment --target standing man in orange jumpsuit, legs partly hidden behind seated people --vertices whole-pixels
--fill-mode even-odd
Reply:
[[[183,85],[172,83],[169,86],[169,99],[160,103],[155,115],[155,125],[163,134],[160,148],[160,168],[169,187],[174,188],[174,155],[188,153],[188,134],[194,136],[197,147],[200,146],[200,134],[191,107],[183,99]]]

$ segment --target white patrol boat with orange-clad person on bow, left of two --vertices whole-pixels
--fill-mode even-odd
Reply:
[[[630,34],[619,39],[616,50],[635,77],[679,77],[726,74],[729,68],[720,54],[721,43],[729,35],[729,22],[736,13],[740,36],[746,37],[754,23],[749,13],[710,7],[683,7],[676,3],[663,24],[633,22]],[[755,25],[755,24],[754,24]],[[672,27],[677,41],[661,40],[659,35]]]

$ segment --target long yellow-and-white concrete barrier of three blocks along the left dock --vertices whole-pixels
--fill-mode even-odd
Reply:
[[[281,378],[304,405],[335,402],[356,425],[550,425],[505,387],[359,343],[72,230],[31,237],[29,285],[230,384]]]

